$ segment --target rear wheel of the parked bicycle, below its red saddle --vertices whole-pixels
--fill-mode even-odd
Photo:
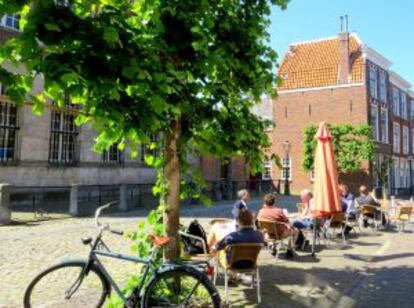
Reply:
[[[141,308],[219,308],[220,296],[208,277],[196,270],[176,268],[157,274],[148,284]]]

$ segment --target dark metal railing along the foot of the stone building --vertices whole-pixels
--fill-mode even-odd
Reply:
[[[159,203],[152,188],[154,183],[122,185],[72,185],[72,186],[22,186],[12,187],[12,211],[32,212],[34,217],[49,213],[72,213],[89,216],[107,202],[118,200],[119,206],[112,210],[151,209]],[[240,189],[247,189],[253,197],[265,193],[279,193],[280,180],[217,180],[209,181],[203,193],[213,201],[235,200]],[[190,203],[198,203],[190,200]],[[183,201],[183,205],[188,202]],[[73,213],[72,213],[73,214]]]

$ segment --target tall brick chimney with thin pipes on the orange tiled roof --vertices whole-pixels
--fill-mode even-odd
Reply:
[[[339,72],[338,83],[344,84],[349,82],[350,61],[349,61],[349,32],[348,32],[348,15],[341,16],[341,32],[338,34],[339,39]],[[345,25],[344,25],[345,21]]]

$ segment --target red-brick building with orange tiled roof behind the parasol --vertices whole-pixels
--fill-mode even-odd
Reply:
[[[414,95],[411,85],[393,72],[391,62],[364,44],[356,34],[292,43],[279,75],[283,79],[273,104],[276,127],[273,151],[292,145],[289,180],[293,191],[312,186],[312,174],[301,168],[303,129],[326,121],[332,124],[370,124],[376,140],[375,163],[393,160],[389,174],[392,194],[411,193],[414,144]],[[341,175],[355,189],[377,185],[372,164],[357,175]],[[273,178],[284,175],[273,168]]]

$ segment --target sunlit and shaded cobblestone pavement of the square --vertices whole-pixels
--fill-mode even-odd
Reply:
[[[281,201],[289,204],[295,199]],[[256,200],[251,207],[259,204]],[[183,221],[197,217],[208,229],[209,219],[228,216],[230,207],[230,202],[211,208],[187,207]],[[134,212],[104,219],[114,227],[133,230],[144,217],[143,212]],[[84,258],[88,247],[80,238],[96,233],[91,218],[0,227],[0,307],[21,307],[24,289],[37,273],[63,258]],[[129,252],[128,240],[111,234],[105,239],[113,250]],[[292,261],[276,262],[262,251],[260,307],[413,307],[413,239],[411,232],[368,230],[350,237],[346,246],[333,243],[323,247],[316,258],[299,253]],[[119,261],[105,265],[121,283],[135,270]],[[219,290],[223,291],[220,281]],[[230,298],[234,307],[257,306],[255,291],[248,287],[232,287]]]

